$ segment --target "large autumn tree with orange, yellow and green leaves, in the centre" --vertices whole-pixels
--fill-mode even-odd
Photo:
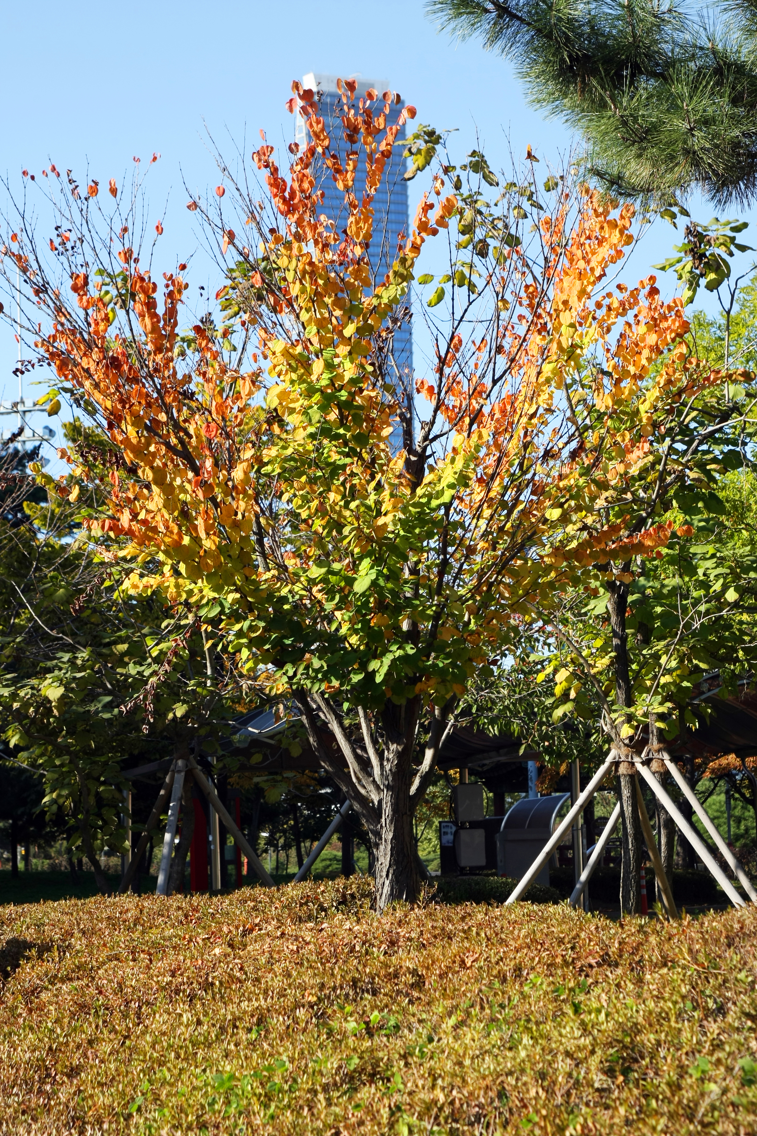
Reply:
[[[557,176],[542,186],[530,152],[494,202],[483,154],[457,167],[446,156],[377,274],[368,247],[393,98],[340,85],[340,136],[294,84],[310,141],[289,148],[288,170],[263,142],[256,182],[221,165],[213,203],[191,200],[224,277],[220,315],[186,333],[186,266],[159,298],[115,182],[103,207],[95,183],[61,181],[54,260],[22,216],[3,265],[22,274],[57,389],[120,456],[103,479],[61,451],[73,482],[107,492],[92,540],[128,538],[135,594],[162,590],[187,618],[220,612],[258,686],[296,705],[369,833],[382,909],[418,894],[413,815],[471,676],[565,573],[616,542],[602,518],[647,460],[688,324],[654,278],[599,290],[632,241],[633,209]],[[342,232],[322,214],[325,177],[344,194]],[[436,281],[419,274],[435,239],[448,260]],[[397,374],[395,314],[413,279],[435,285],[434,358],[427,374]],[[579,404],[569,379],[594,358]],[[653,526],[633,540],[651,556],[667,536]]]

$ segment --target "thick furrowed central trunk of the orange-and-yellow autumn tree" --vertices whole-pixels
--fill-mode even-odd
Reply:
[[[376,907],[384,909],[397,900],[414,903],[420,892],[413,813],[410,807],[412,767],[401,746],[385,750],[381,816],[376,845]]]

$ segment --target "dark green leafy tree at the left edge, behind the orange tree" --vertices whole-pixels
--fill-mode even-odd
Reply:
[[[102,436],[79,423],[65,433],[107,477],[113,451]],[[26,499],[7,501],[0,519],[0,728],[11,755],[41,775],[24,774],[24,784],[43,791],[25,809],[16,793],[10,820],[22,835],[32,817],[37,828],[44,815],[53,827],[62,820],[70,853],[86,857],[107,891],[102,852],[124,851],[123,767],[187,745],[216,751],[238,684],[230,660],[208,676],[212,620],[187,624],[161,596],[132,595],[118,537],[95,553],[82,521],[96,511],[96,488],[32,467],[47,492],[24,474]]]

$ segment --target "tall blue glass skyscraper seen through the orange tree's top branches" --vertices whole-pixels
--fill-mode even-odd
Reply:
[[[339,117],[343,114],[342,95],[336,89],[336,75],[319,75],[311,72],[302,80],[303,86],[311,87],[317,92],[321,115],[326,126],[333,137],[339,137],[342,123]],[[379,98],[384,91],[389,90],[389,84],[382,80],[359,80],[355,91],[355,99],[359,99],[369,87],[378,91]],[[389,122],[387,125],[396,123],[404,102],[393,105]],[[405,137],[405,127],[399,128],[397,143]],[[305,124],[302,118],[296,123],[296,141],[303,145],[305,143]],[[397,144],[392,154],[385,176],[378,191],[373,197],[373,237],[369,247],[369,257],[375,276],[380,279],[387,272],[392,261],[397,254],[397,237],[402,233],[407,233],[407,183],[403,179],[405,162],[402,157],[403,147]],[[330,175],[323,178],[321,189],[323,190],[323,212],[334,220],[337,232],[346,224],[344,209],[344,194],[331,181]],[[360,197],[365,189],[365,164],[364,160],[358,166],[355,175],[355,194]],[[407,296],[410,304],[410,295]],[[405,368],[412,370],[413,344],[410,325],[403,323],[402,327],[395,332],[394,357],[397,366],[404,371]]]

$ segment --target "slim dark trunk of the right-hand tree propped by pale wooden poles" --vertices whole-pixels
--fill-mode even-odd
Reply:
[[[623,568],[628,571],[629,566]],[[621,580],[608,585],[607,613],[613,630],[613,651],[615,654],[615,696],[620,705],[633,704],[631,671],[628,657],[628,632],[625,616],[628,611],[629,586]],[[621,911],[626,914],[638,914],[641,910],[641,822],[636,799],[636,770],[623,769],[615,778],[617,800],[621,803],[621,828],[623,854],[621,864]]]

